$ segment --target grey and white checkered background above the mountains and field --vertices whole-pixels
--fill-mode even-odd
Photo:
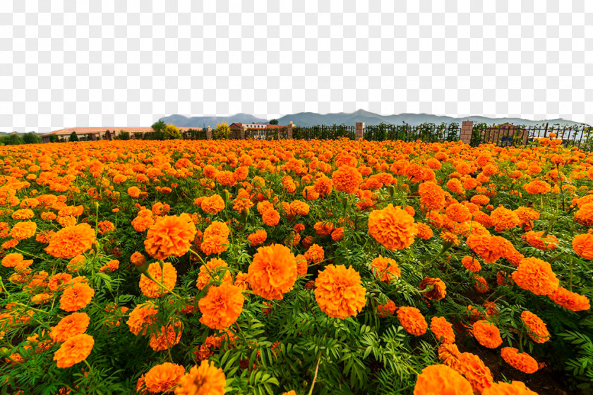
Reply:
[[[1,0],[0,131],[300,111],[593,123],[593,1]]]

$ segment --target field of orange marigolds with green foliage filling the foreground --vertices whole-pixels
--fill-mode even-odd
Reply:
[[[0,394],[590,394],[555,137],[0,147]]]

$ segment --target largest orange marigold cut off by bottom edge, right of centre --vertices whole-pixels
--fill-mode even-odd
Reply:
[[[424,367],[414,386],[414,395],[473,395],[474,391],[462,375],[447,365]]]

